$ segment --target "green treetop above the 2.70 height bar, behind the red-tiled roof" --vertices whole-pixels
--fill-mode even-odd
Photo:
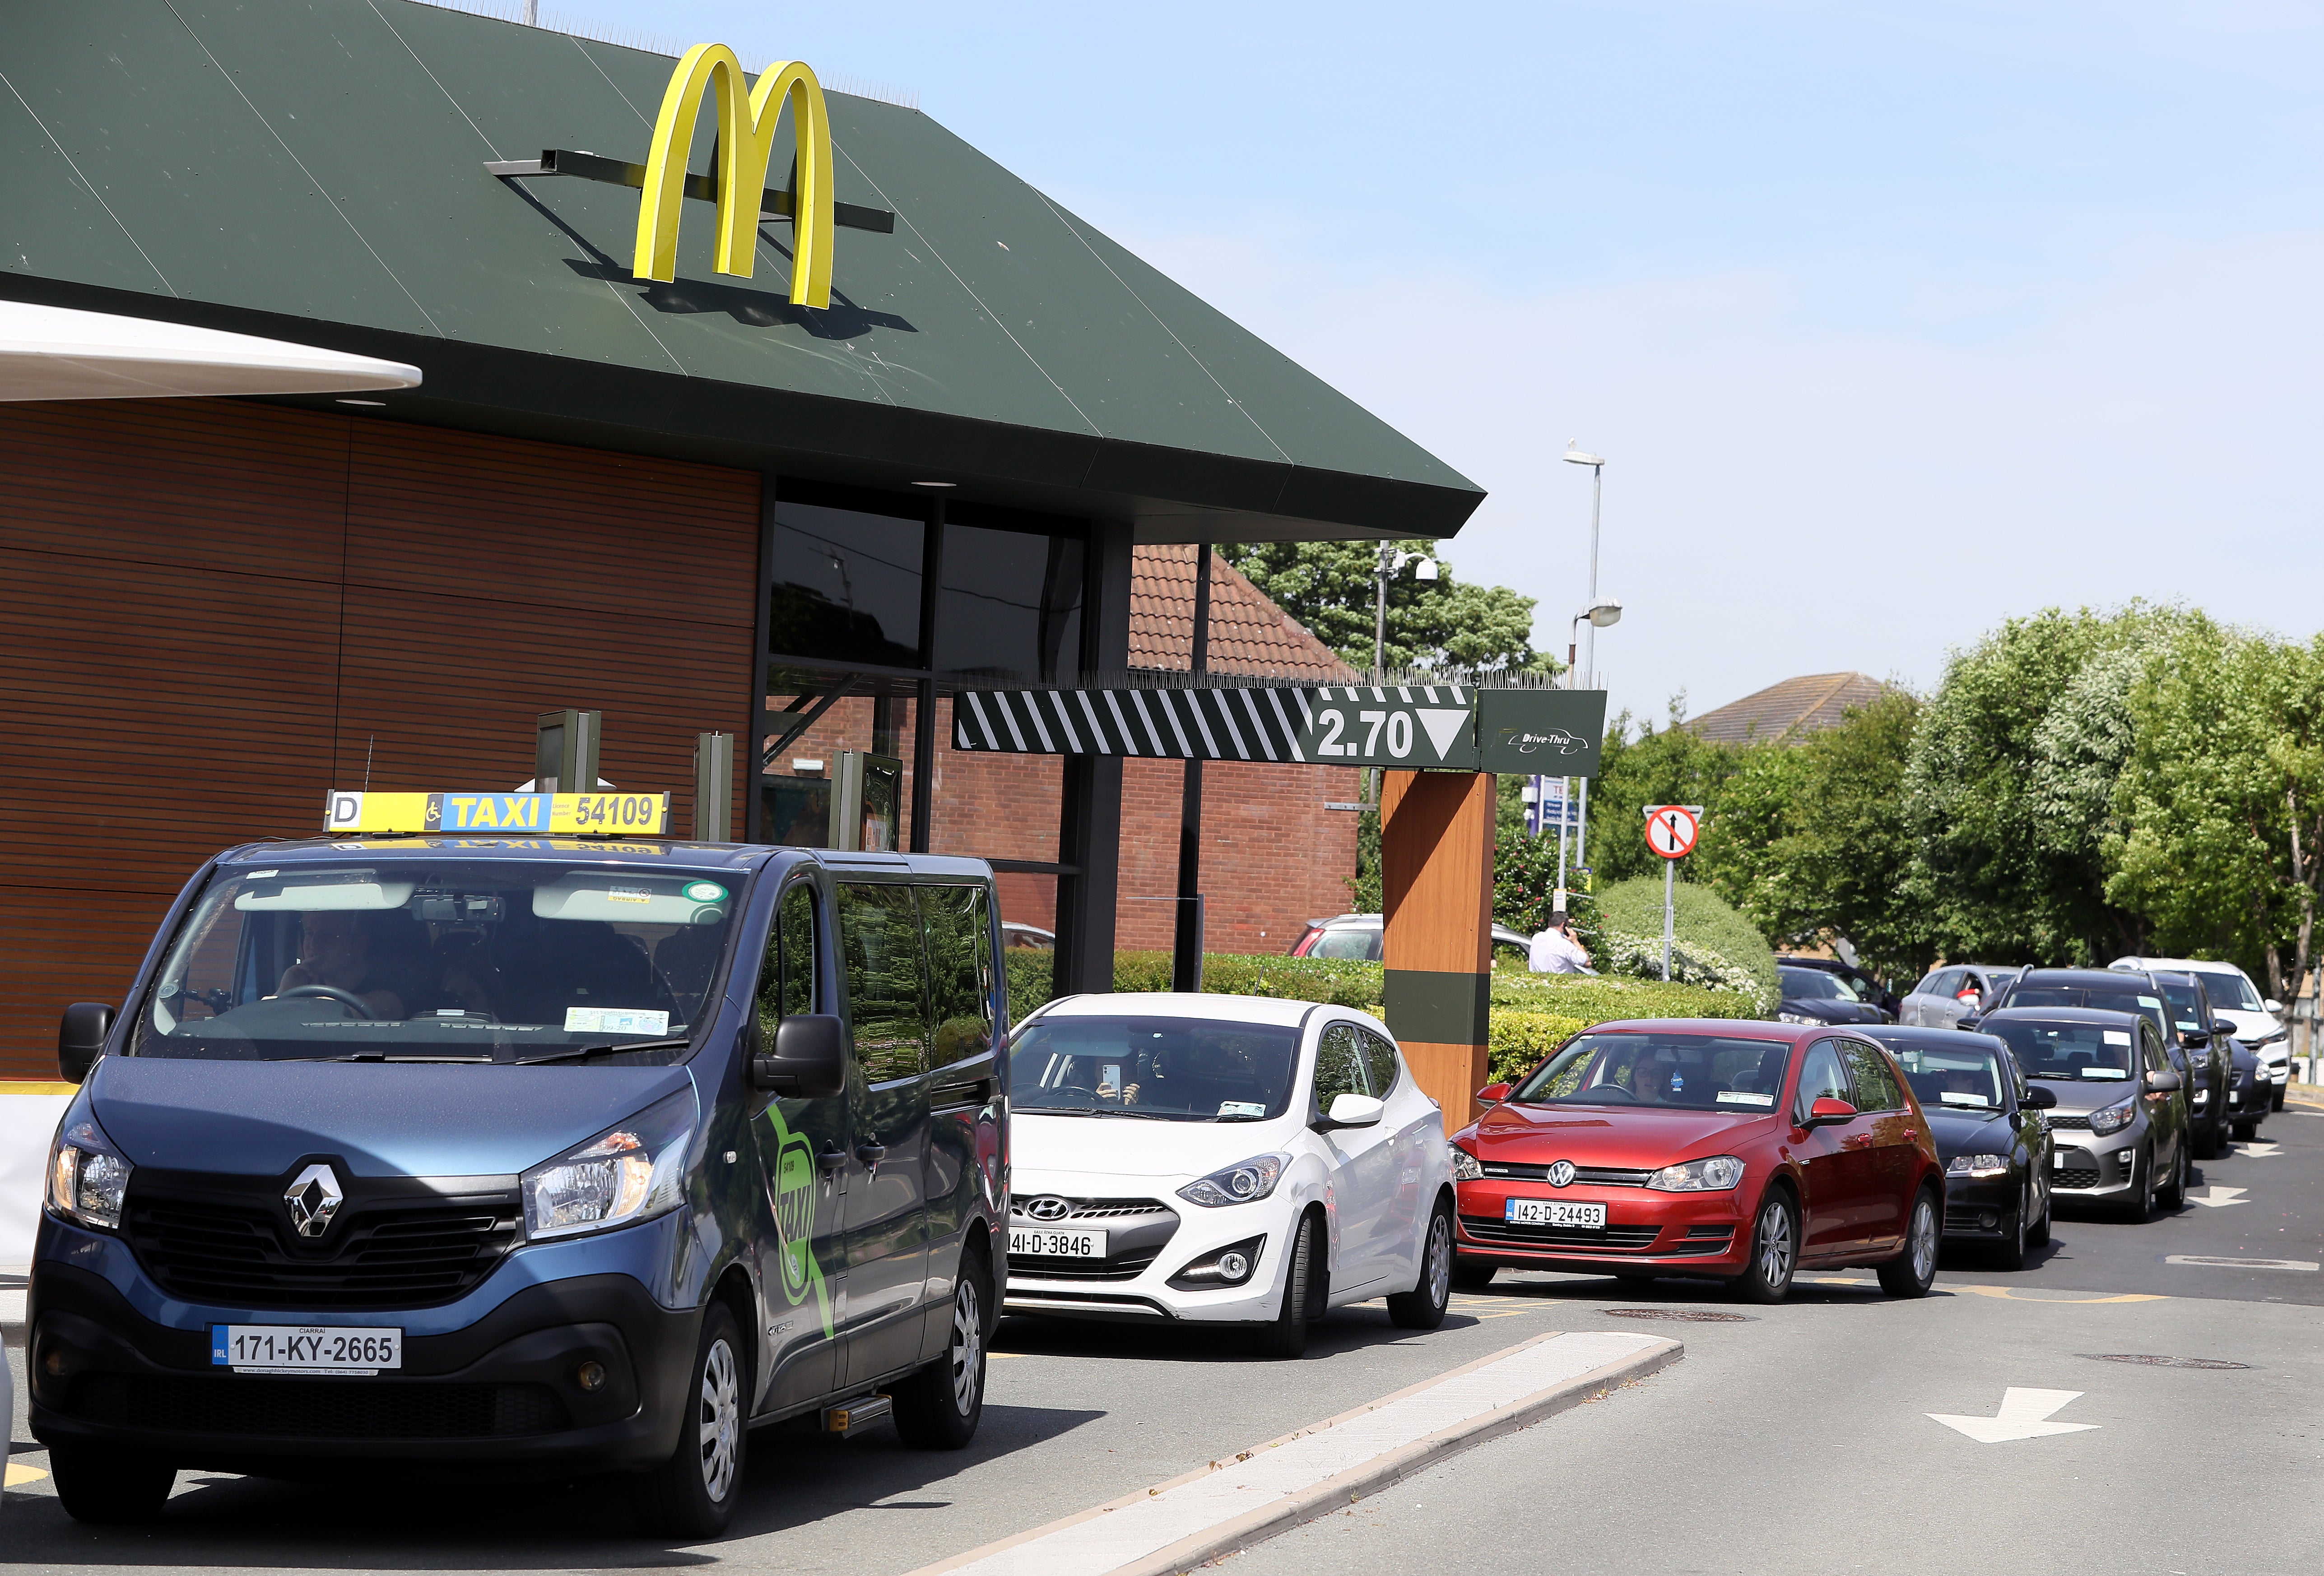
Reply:
[[[1390,546],[1436,553],[1425,539]],[[1243,542],[1218,551],[1348,667],[1371,672],[1378,542]],[[1532,639],[1534,597],[1459,581],[1441,558],[1434,581],[1408,567],[1387,581],[1387,667],[1557,672],[1562,662],[1536,653]]]

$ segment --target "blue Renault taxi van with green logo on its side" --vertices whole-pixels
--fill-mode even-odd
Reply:
[[[621,1474],[646,1530],[706,1536],[758,1425],[964,1446],[1009,1218],[997,948],[962,858],[216,855],[121,1011],[58,1039],[81,1090],[28,1295],[58,1497]]]

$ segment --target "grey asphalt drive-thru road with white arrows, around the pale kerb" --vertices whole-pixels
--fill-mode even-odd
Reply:
[[[2168,1265],[2324,1262],[2324,1116],[2278,1113],[2275,1153],[2201,1169],[2147,1225],[2061,1218],[2022,1274],[1948,1258],[1941,1292],[1880,1297],[1868,1271],[1780,1309],[1715,1288],[1504,1276],[1413,1334],[1378,1304],[1332,1318],[1297,1364],[1232,1337],[1009,1320],[985,1425],[957,1455],[874,1430],[758,1434],[734,1532],[679,1548],[630,1532],[602,1485],[344,1490],[184,1474],[163,1525],[72,1523],[46,1481],[9,1490],[0,1557],[86,1571],[546,1571],[723,1564],[902,1576],[1136,1492],[1545,1330],[1641,1330],[1687,1357],[1604,1402],[1480,1446],[1229,1564],[1411,1569],[1848,1571],[2003,1562],[2013,1571],[2312,1569],[2324,1534],[2324,1274]],[[2222,1195],[2224,1197],[2224,1195]],[[1715,1323],[1631,1318],[1724,1313]],[[1741,1318],[1736,1318],[1741,1316]],[[2129,1353],[2243,1362],[2168,1369]],[[21,1351],[12,1351],[19,1397]],[[1922,1413],[1994,1416],[2003,1390],[2082,1390],[2094,1432],[1975,1444]],[[23,1413],[14,1462],[42,1469]],[[1936,1488],[1936,1492],[1927,1492]],[[1750,1553],[1757,1548],[1757,1553]],[[1555,1553],[1550,1553],[1555,1550]]]

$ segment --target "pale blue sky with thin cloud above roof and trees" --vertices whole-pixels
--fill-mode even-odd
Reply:
[[[483,9],[483,7],[479,7]],[[1917,688],[2047,604],[2308,637],[2324,223],[2289,5],[551,0],[911,95],[1492,497],[1618,707]]]

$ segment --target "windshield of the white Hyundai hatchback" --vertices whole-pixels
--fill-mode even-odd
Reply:
[[[1041,1116],[1255,1123],[1283,1116],[1299,1030],[1222,1018],[1034,1018],[1009,1051],[1009,1104]]]

